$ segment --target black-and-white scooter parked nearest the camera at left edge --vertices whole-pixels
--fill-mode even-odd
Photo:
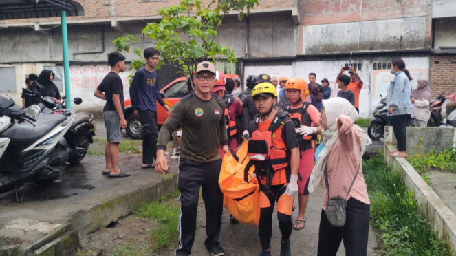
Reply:
[[[0,93],[0,193],[14,190],[17,202],[25,182],[51,184],[65,170],[68,152],[58,142],[72,127],[75,113],[51,113],[32,118]]]

